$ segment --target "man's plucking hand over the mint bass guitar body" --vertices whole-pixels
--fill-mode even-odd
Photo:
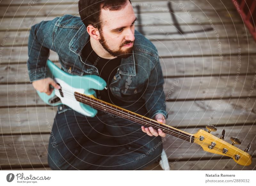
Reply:
[[[60,86],[57,85],[55,81],[53,81],[53,79],[50,77],[34,81],[32,82],[32,85],[36,90],[38,90],[39,92],[44,92],[47,95],[52,94],[53,89],[50,88],[50,85],[52,85],[55,89],[60,89]]]

